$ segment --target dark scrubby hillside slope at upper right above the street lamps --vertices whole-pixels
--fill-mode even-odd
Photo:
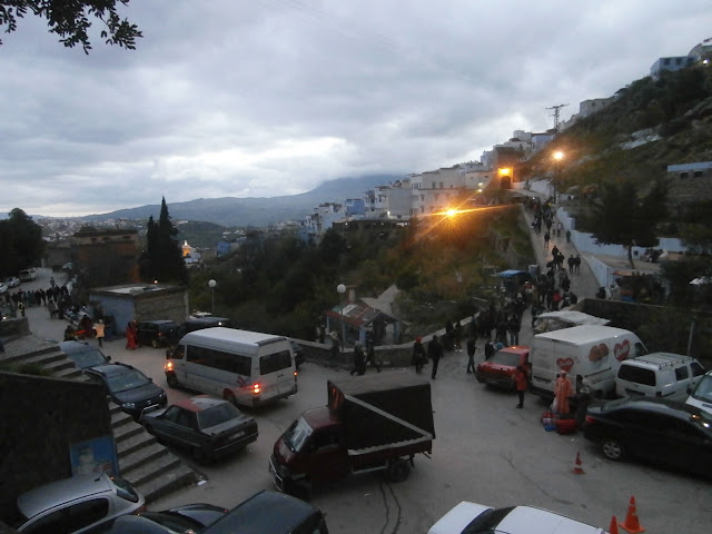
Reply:
[[[523,179],[553,176],[555,150],[565,155],[561,191],[606,180],[632,180],[644,190],[668,178],[670,165],[711,161],[712,69],[689,68],[634,81],[613,103],[576,122],[526,162]]]

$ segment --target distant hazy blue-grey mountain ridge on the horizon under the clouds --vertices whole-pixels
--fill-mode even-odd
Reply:
[[[281,197],[198,198],[187,202],[168,202],[168,211],[174,220],[201,220],[231,227],[267,227],[286,220],[304,219],[308,214],[314,212],[315,207],[324,202],[344,204],[348,198],[363,198],[368,189],[390,184],[400,178],[400,175],[338,178],[325,181],[308,192]],[[160,204],[118,209],[108,214],[88,215],[82,219],[148,219],[151,215],[158,219]]]

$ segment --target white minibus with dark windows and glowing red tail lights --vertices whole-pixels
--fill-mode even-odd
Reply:
[[[206,328],[186,334],[168,355],[170,387],[185,386],[243,406],[297,393],[297,372],[284,336]]]

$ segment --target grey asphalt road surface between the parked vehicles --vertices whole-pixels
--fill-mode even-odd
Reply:
[[[49,270],[40,269],[38,280],[23,287],[47,287],[50,276]],[[44,308],[27,313],[34,334],[61,339],[65,320],[50,320]],[[105,343],[105,353],[151,376],[166,388],[169,402],[190,395],[168,388],[165,350],[129,352],[123,339],[117,339]],[[465,374],[466,359],[464,352],[448,353],[441,362],[437,379],[432,382],[437,434],[433,455],[416,457],[407,481],[390,484],[369,474],[314,492],[312,502],[325,512],[330,532],[426,533],[461,501],[496,507],[542,506],[607,530],[613,515],[625,518],[631,496],[650,534],[710,532],[710,479],[652,464],[612,463],[581,434],[545,432],[540,424],[544,405],[536,397],[527,395],[524,409],[515,409],[515,395],[490,389]],[[253,414],[259,423],[257,443],[231,458],[197,465],[205,484],[164,497],[151,508],[197,502],[231,507],[260,490],[273,488],[267,465],[274,442],[303,411],[326,404],[326,380],[338,376],[346,374],[305,364],[297,395]],[[572,472],[576,453],[581,453],[583,475]]]

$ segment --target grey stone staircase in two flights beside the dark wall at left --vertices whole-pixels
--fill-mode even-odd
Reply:
[[[6,353],[0,354],[0,363],[9,364],[13,370],[31,364],[57,378],[88,379],[57,343],[31,335],[6,339]],[[119,472],[147,503],[198,482],[198,473],[160,445],[119,406],[109,402],[109,412]]]

